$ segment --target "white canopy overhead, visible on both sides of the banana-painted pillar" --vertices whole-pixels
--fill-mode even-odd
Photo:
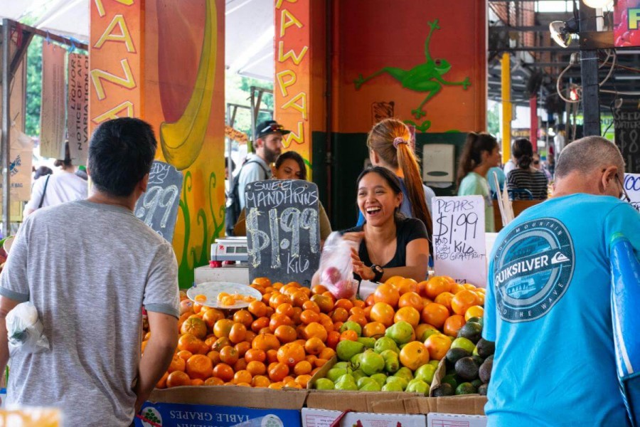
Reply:
[[[87,42],[90,1],[0,0],[0,18]],[[226,68],[247,77],[273,81],[273,1],[225,0],[225,8]]]

